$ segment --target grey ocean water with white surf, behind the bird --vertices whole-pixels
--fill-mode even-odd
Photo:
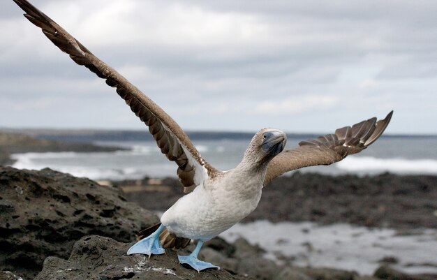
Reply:
[[[287,148],[296,147],[307,138],[288,138]],[[195,146],[206,161],[219,170],[229,170],[239,161],[250,139],[196,140]],[[174,177],[177,166],[168,161],[155,142],[145,140],[94,141],[98,145],[127,148],[125,151],[96,153],[26,153],[14,154],[15,168],[52,168],[77,177],[91,179],[141,179]],[[348,156],[329,166],[303,168],[302,172],[330,175],[397,174],[437,175],[437,136],[390,136],[380,138],[360,154]]]

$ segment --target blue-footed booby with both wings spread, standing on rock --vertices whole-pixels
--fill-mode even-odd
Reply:
[[[166,248],[180,249],[190,240],[198,240],[194,251],[188,256],[179,256],[179,262],[198,271],[217,267],[198,260],[203,242],[249,215],[257,207],[265,185],[284,172],[311,165],[329,165],[361,152],[379,138],[392,117],[392,112],[379,121],[373,117],[339,128],[335,133],[300,142],[299,147],[286,151],[283,151],[286,133],[263,128],[253,136],[237,167],[228,171],[216,170],[200,156],[182,128],[137,87],[31,3],[13,1],[54,45],[77,64],[105,79],[110,87],[115,87],[117,94],[149,127],[161,152],[177,164],[177,176],[188,194],[163,214],[161,223],[142,230],[140,236],[144,238],[131,246],[128,254],[162,254]]]

